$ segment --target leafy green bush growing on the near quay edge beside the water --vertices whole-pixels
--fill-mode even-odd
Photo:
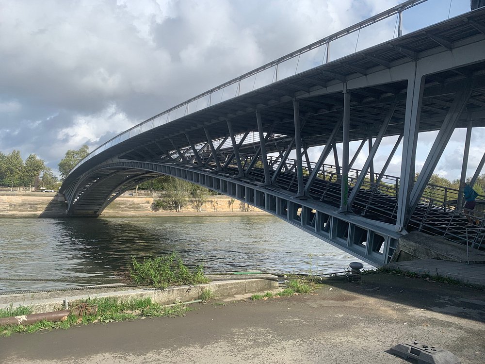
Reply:
[[[189,269],[180,256],[173,252],[162,257],[147,258],[141,262],[132,258],[126,271],[130,281],[164,289],[168,286],[209,282],[209,279],[204,277],[202,269],[202,265]]]

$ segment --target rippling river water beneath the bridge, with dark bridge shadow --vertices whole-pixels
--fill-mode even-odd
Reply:
[[[0,280],[0,293],[106,283],[131,257],[172,251],[206,273],[331,273],[359,261],[272,216],[1,219],[0,278],[82,281]]]

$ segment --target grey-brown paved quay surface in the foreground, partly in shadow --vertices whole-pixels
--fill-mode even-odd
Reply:
[[[90,324],[0,338],[0,363],[405,364],[419,340],[484,363],[483,290],[367,274],[313,295],[195,305],[185,317]],[[224,305],[222,305],[224,303]]]

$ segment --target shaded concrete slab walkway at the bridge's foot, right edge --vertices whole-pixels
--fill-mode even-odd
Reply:
[[[418,274],[450,277],[463,283],[485,286],[485,264],[467,264],[438,259],[424,259],[390,263],[387,266]]]

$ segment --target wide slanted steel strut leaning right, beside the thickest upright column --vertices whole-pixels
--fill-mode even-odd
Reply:
[[[453,134],[453,131],[456,127],[456,122],[461,116],[461,113],[463,112],[463,109],[467,104],[471,92],[472,90],[469,85],[466,85],[463,87],[463,89],[456,93],[450,110],[448,110],[448,113],[443,120],[443,124],[441,125],[441,129],[439,130],[438,135],[436,136],[436,140],[433,143],[433,147],[431,147],[428,157],[426,158],[426,162],[424,162],[418,180],[416,181],[416,184],[411,191],[408,216],[413,214],[414,209],[418,205],[424,188],[426,187],[426,183],[428,183],[429,178],[433,174],[436,164],[438,163],[439,158],[443,153],[443,150],[445,149],[448,141]]]

